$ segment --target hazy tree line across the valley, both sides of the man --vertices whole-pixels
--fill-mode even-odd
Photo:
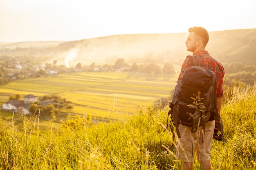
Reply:
[[[119,58],[114,64],[97,65],[94,62],[90,65],[82,65],[81,62],[74,67],[67,68],[65,65],[58,65],[58,60],[52,63],[39,62],[33,60],[33,57],[0,57],[0,85],[7,84],[17,79],[25,79],[29,77],[42,77],[53,73],[62,74],[70,72],[108,72],[108,71],[124,71],[147,73],[153,75],[174,74],[175,68],[172,62],[164,64],[145,64],[136,63],[128,64],[124,58]],[[16,68],[21,65],[22,68]],[[42,66],[44,65],[44,66]],[[254,84],[256,80],[256,67],[245,65],[240,62],[223,63],[225,67],[225,84],[230,86],[236,84]]]

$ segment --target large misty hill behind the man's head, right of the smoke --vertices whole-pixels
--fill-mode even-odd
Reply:
[[[256,63],[256,29],[210,32],[207,50],[221,62]],[[184,42],[188,33],[113,35],[74,42],[63,42],[58,51],[77,49],[74,61],[113,63],[127,62],[180,64],[186,55]],[[241,60],[243,58],[243,61]],[[90,63],[89,62],[89,63]]]

